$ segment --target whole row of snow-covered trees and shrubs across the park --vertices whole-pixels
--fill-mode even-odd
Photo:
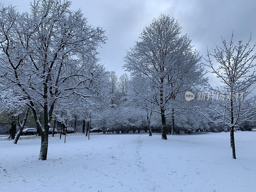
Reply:
[[[220,124],[230,129],[236,158],[234,128],[256,116],[251,38],[234,45],[232,35],[202,63],[179,23],[162,14],[127,51],[123,67],[131,76],[118,79],[98,58],[97,48],[107,40],[104,29],[89,25],[82,11],[71,11],[70,5],[39,0],[31,2],[30,12],[12,5],[0,9],[0,112],[11,116],[14,143],[29,112],[41,136],[41,160],[47,158],[48,132],[56,120],[65,127],[81,120],[83,132],[94,126],[103,133],[145,130],[149,136],[160,125],[164,140],[168,133]],[[220,85],[209,85],[204,67],[221,79]],[[207,91],[207,101],[186,101],[188,91]]]

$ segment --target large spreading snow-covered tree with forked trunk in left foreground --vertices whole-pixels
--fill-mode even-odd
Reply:
[[[31,2],[30,12],[20,14],[12,6],[0,10],[1,68],[7,71],[8,84],[19,88],[17,95],[29,101],[41,133],[41,160],[47,158],[55,103],[91,81],[79,58],[96,52],[107,39],[102,28],[89,25],[82,11],[71,11],[70,5],[69,1],[39,0]]]

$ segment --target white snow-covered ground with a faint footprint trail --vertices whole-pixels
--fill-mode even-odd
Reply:
[[[48,158],[39,161],[40,137],[17,145],[0,139],[0,191],[256,191],[256,131],[229,133],[68,134],[49,136]]]

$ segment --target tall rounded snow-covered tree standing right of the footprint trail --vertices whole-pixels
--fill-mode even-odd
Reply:
[[[178,93],[204,81],[204,69],[198,63],[201,57],[193,50],[189,37],[180,34],[179,23],[161,14],[144,29],[141,41],[124,58],[124,68],[131,76],[147,83],[145,90],[137,89],[138,94],[147,95],[145,100],[159,108],[154,110],[161,115],[162,139],[167,139],[166,111],[170,102]]]

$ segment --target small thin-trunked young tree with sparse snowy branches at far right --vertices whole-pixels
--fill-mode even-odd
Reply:
[[[245,121],[255,120],[256,116],[256,98],[252,95],[256,83],[256,53],[253,52],[256,44],[250,47],[251,41],[250,37],[246,44],[242,44],[242,41],[234,44],[232,33],[229,43],[222,38],[223,47],[216,45],[214,54],[208,52],[205,64],[220,79],[220,84],[211,88],[213,94],[216,94],[215,97],[208,94],[212,104],[206,117],[212,122],[229,127],[234,159],[234,128]]]

